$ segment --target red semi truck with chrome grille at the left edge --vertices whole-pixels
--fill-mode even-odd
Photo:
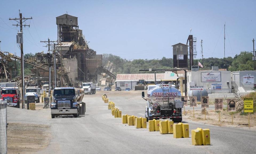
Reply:
[[[19,108],[20,94],[18,87],[2,87],[1,98],[7,100],[7,106]]]

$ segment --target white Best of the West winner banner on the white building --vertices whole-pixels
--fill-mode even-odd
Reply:
[[[201,72],[201,82],[221,82],[221,72]]]

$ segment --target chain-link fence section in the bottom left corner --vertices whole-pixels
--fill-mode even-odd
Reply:
[[[0,100],[0,154],[7,153],[7,108],[6,100]]]

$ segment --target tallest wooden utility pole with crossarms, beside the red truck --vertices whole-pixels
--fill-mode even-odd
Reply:
[[[23,22],[25,22],[27,19],[32,19],[32,17],[30,17],[30,18],[25,18],[25,17],[23,17],[22,18],[22,13],[20,12],[20,10],[19,10],[19,18],[14,18],[14,19],[11,19],[11,18],[9,18],[9,20],[15,20],[15,21],[17,21],[18,23],[19,23],[19,25],[18,24],[16,24],[16,25],[14,25],[14,26],[20,26],[20,33],[22,34],[23,33],[23,30],[22,30],[22,26],[24,26],[24,27],[26,27],[26,26],[28,26],[28,27],[30,27],[30,25],[26,25],[26,24],[24,24],[24,25],[22,25],[22,23]],[[18,21],[19,20],[19,21]],[[23,40],[23,38],[22,38],[22,40]],[[21,101],[22,101],[22,109],[25,107],[24,106],[24,95],[25,95],[25,82],[24,82],[24,60],[23,60],[23,41],[21,41],[21,77],[22,77],[22,80],[21,80],[21,89],[22,89],[22,95],[21,95]],[[28,103],[27,103],[27,106],[28,106]],[[27,107],[27,109],[29,109],[28,107]]]

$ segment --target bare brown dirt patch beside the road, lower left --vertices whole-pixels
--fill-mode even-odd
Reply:
[[[33,153],[46,148],[51,138],[49,129],[49,125],[9,123],[8,153]]]

